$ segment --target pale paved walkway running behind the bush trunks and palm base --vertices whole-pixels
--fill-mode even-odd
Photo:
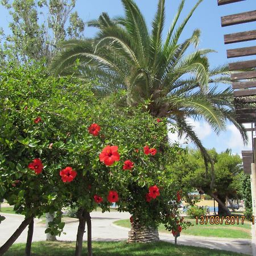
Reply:
[[[1,213],[2,214],[2,213]],[[0,224],[0,246],[13,234],[23,216],[16,214],[2,214],[6,217]],[[116,220],[127,219],[130,217],[129,213],[119,212],[92,212],[92,239],[93,241],[120,241],[127,240],[129,229],[122,228],[113,224]],[[75,241],[78,222],[72,222],[65,225],[64,232],[58,240],[62,241]],[[45,227],[35,220],[34,237],[33,241],[42,241],[46,239],[44,234]],[[17,242],[26,242],[27,229],[24,230],[22,235],[16,240]],[[84,236],[86,240],[86,236]],[[174,242],[174,237],[170,234],[160,233],[160,239],[167,242]],[[245,253],[252,255],[251,240],[247,239],[232,239],[232,238],[213,238],[213,237],[199,237],[199,236],[186,236],[181,234],[177,238],[178,244],[192,245],[200,247],[208,247],[211,249],[221,249],[236,251],[238,253]]]

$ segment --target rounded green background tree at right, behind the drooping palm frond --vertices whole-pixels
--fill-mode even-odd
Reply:
[[[185,191],[195,188],[200,193],[210,195],[218,202],[218,214],[230,215],[230,210],[225,206],[226,197],[237,198],[237,191],[241,189],[241,179],[243,176],[240,164],[242,162],[239,155],[233,155],[231,150],[226,150],[218,154],[213,148],[208,150],[214,162],[215,181],[211,188],[211,177],[205,174],[204,159],[199,150],[189,150],[187,160],[179,166],[172,166],[174,175]]]

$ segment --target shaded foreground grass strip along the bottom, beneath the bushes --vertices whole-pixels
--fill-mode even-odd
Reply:
[[[34,242],[32,243],[33,256],[71,256],[75,253],[75,242]],[[11,246],[5,256],[23,256],[24,243],[16,243]],[[245,255],[231,251],[213,250],[203,247],[173,245],[168,242],[133,243],[126,242],[93,242],[93,256],[217,256],[217,255]],[[82,255],[86,255],[86,243]]]

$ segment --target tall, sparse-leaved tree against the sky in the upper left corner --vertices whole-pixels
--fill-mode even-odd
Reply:
[[[11,16],[11,34],[0,30],[2,61],[48,63],[61,40],[82,38],[84,22],[73,12],[76,0],[3,0],[1,4]]]

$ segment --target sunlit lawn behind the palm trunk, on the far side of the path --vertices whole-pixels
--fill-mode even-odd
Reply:
[[[225,237],[225,238],[251,238],[251,223],[245,221],[243,225],[196,225],[196,220],[191,218],[185,218],[185,220],[192,222],[194,226],[190,226],[188,229],[182,230],[181,234],[187,234],[192,236],[203,236],[203,237]],[[114,222],[115,225],[130,228],[130,220],[118,220]],[[170,233],[164,225],[159,226],[159,232]]]

